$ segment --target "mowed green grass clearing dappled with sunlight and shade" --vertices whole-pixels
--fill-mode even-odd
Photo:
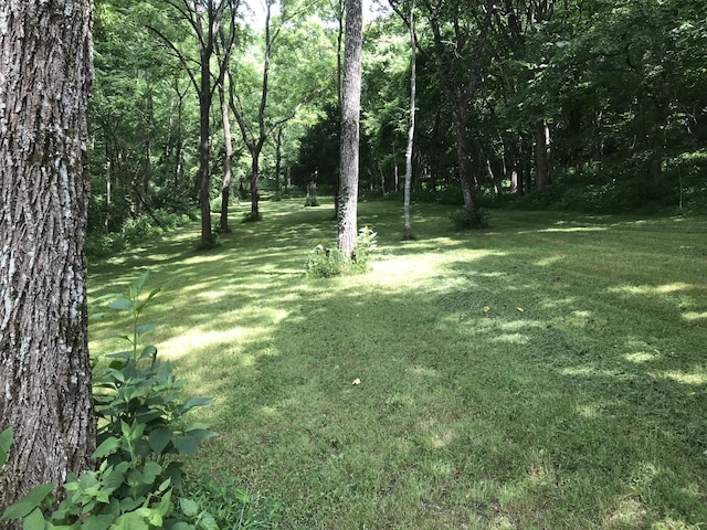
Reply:
[[[242,210],[243,208],[241,208]],[[263,203],[93,265],[149,269],[146,322],[219,433],[193,469],[282,502],[285,529],[707,528],[707,221],[360,204],[369,274],[307,279],[330,205]],[[94,353],[118,344],[92,327]],[[358,384],[355,384],[358,383]]]

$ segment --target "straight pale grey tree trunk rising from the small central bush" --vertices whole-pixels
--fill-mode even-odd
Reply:
[[[339,169],[338,247],[345,258],[356,252],[359,114],[361,103],[361,46],[363,13],[361,0],[346,0],[346,44],[341,92],[341,141]]]

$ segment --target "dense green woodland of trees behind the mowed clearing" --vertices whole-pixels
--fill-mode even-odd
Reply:
[[[390,2],[365,24],[361,192],[402,192],[412,21],[413,200],[707,208],[704,2]],[[263,191],[315,176],[334,192],[344,11],[98,0],[89,231],[140,233],[199,200],[202,221],[207,200],[258,214]]]

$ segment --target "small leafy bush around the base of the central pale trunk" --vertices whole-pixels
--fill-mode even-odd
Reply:
[[[368,226],[359,230],[356,237],[356,250],[351,259],[346,259],[337,247],[317,245],[305,263],[307,276],[330,278],[345,274],[366,273],[370,267],[371,253],[376,250],[378,234]]]

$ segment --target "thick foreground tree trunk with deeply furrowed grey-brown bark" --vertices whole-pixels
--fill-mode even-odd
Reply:
[[[0,2],[0,512],[91,467],[84,243],[91,0]],[[9,527],[12,528],[12,527]]]

